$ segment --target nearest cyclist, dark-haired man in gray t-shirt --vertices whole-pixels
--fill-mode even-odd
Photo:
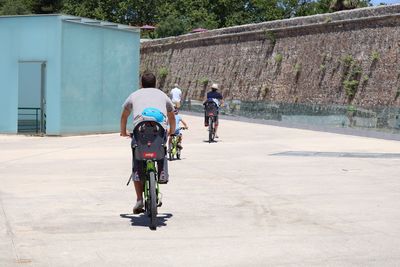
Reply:
[[[123,111],[121,114],[120,122],[120,136],[130,137],[130,133],[126,130],[126,124],[128,117],[133,113],[133,126],[140,121],[143,121],[142,112],[148,108],[153,108],[161,112],[161,117],[168,118],[168,124],[170,130],[165,130],[165,141],[167,140],[167,135],[173,134],[175,132],[175,114],[174,106],[169,99],[169,97],[156,87],[156,77],[150,72],[145,72],[141,77],[142,88],[133,92],[125,100],[122,105]],[[164,120],[165,121],[165,120]],[[162,123],[164,129],[166,129],[166,122]],[[135,147],[136,140],[132,137],[132,152]],[[133,155],[133,153],[132,153]],[[168,182],[168,166],[167,159],[158,161],[158,177],[159,183]],[[132,160],[132,180],[135,186],[136,192],[136,204],[133,208],[133,213],[139,213],[143,209],[143,166],[140,161]]]

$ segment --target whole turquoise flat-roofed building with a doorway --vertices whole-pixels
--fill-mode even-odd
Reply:
[[[67,15],[0,16],[0,133],[119,131],[139,85],[137,28]]]

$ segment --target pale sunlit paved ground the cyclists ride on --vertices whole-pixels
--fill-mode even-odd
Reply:
[[[184,119],[157,231],[129,140],[0,136],[0,266],[400,265],[400,142]]]

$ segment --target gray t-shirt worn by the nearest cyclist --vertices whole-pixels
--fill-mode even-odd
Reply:
[[[167,112],[174,111],[171,99],[163,91],[156,88],[142,88],[133,92],[125,100],[122,107],[132,111],[134,119],[141,115],[145,108],[157,108],[164,115],[167,115]]]

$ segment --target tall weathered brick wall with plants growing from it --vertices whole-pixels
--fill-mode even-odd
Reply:
[[[400,106],[400,5],[265,22],[145,42],[141,70],[201,100]],[[205,81],[208,80],[208,84]]]

